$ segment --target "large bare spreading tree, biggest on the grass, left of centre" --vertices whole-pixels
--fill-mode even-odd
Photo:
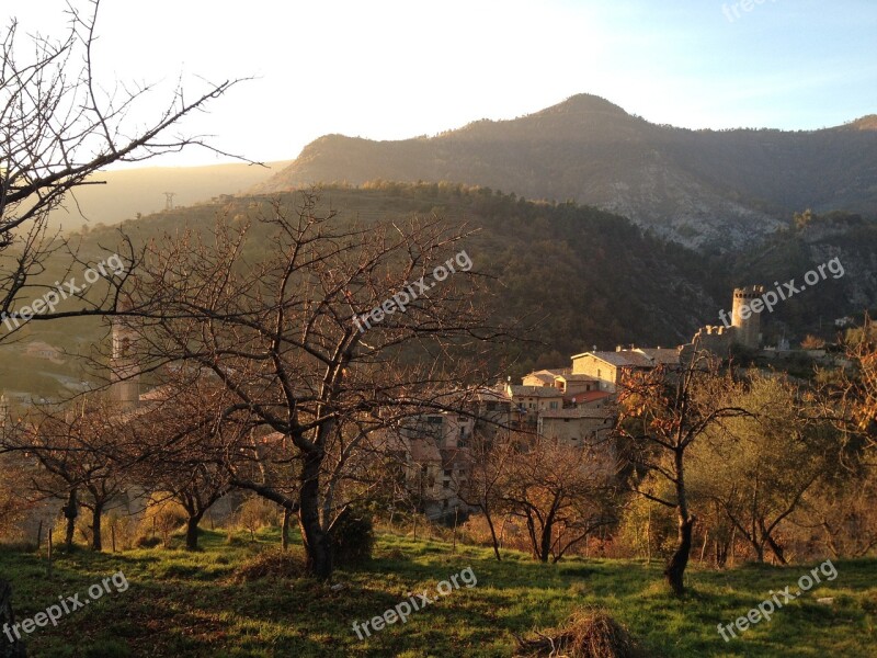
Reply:
[[[235,398],[224,418],[281,435],[276,460],[298,465],[294,495],[232,484],[298,514],[319,578],[331,576],[328,537],[346,506],[323,488],[333,443],[350,456],[375,430],[441,407],[442,389],[474,376],[466,367],[483,374],[494,332],[474,302],[471,260],[453,252],[465,237],[440,218],[345,227],[306,193],[297,208],[266,202],[255,224],[169,237],[133,288],[144,362],[210,371]]]

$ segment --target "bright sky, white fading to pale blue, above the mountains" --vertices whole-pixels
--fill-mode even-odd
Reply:
[[[59,34],[64,7],[2,0],[0,18]],[[257,77],[186,128],[265,161],[327,133],[432,135],[580,92],[691,128],[877,113],[875,0],[103,0],[98,33],[104,80],[182,76],[194,97],[198,76]]]

